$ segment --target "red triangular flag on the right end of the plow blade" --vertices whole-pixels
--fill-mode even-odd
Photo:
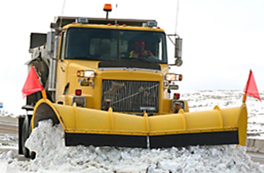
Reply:
[[[255,97],[256,99],[259,99],[261,101],[261,97],[260,97],[256,82],[255,82],[252,70],[250,70],[249,79],[244,89],[244,92],[248,96]]]

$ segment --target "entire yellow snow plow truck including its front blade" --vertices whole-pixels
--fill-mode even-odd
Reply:
[[[170,96],[182,75],[169,72],[171,35],[155,20],[58,16],[50,27],[30,37],[26,64],[34,66],[45,94],[26,97],[19,154],[30,157],[24,143],[45,119],[61,124],[66,146],[245,145],[245,103],[191,113],[179,94]],[[173,65],[180,66],[182,39],[172,37]]]

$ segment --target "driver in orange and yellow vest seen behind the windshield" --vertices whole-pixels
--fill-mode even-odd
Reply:
[[[129,58],[139,58],[145,59],[148,57],[153,57],[153,54],[145,50],[145,42],[134,42],[134,50],[130,52]]]

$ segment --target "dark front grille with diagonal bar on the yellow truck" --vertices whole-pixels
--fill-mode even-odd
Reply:
[[[158,112],[159,82],[103,80],[102,110],[110,100],[117,112]]]

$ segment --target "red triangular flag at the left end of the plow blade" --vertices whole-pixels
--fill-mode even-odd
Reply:
[[[43,86],[40,84],[36,71],[32,65],[22,89],[23,98],[42,90]]]

